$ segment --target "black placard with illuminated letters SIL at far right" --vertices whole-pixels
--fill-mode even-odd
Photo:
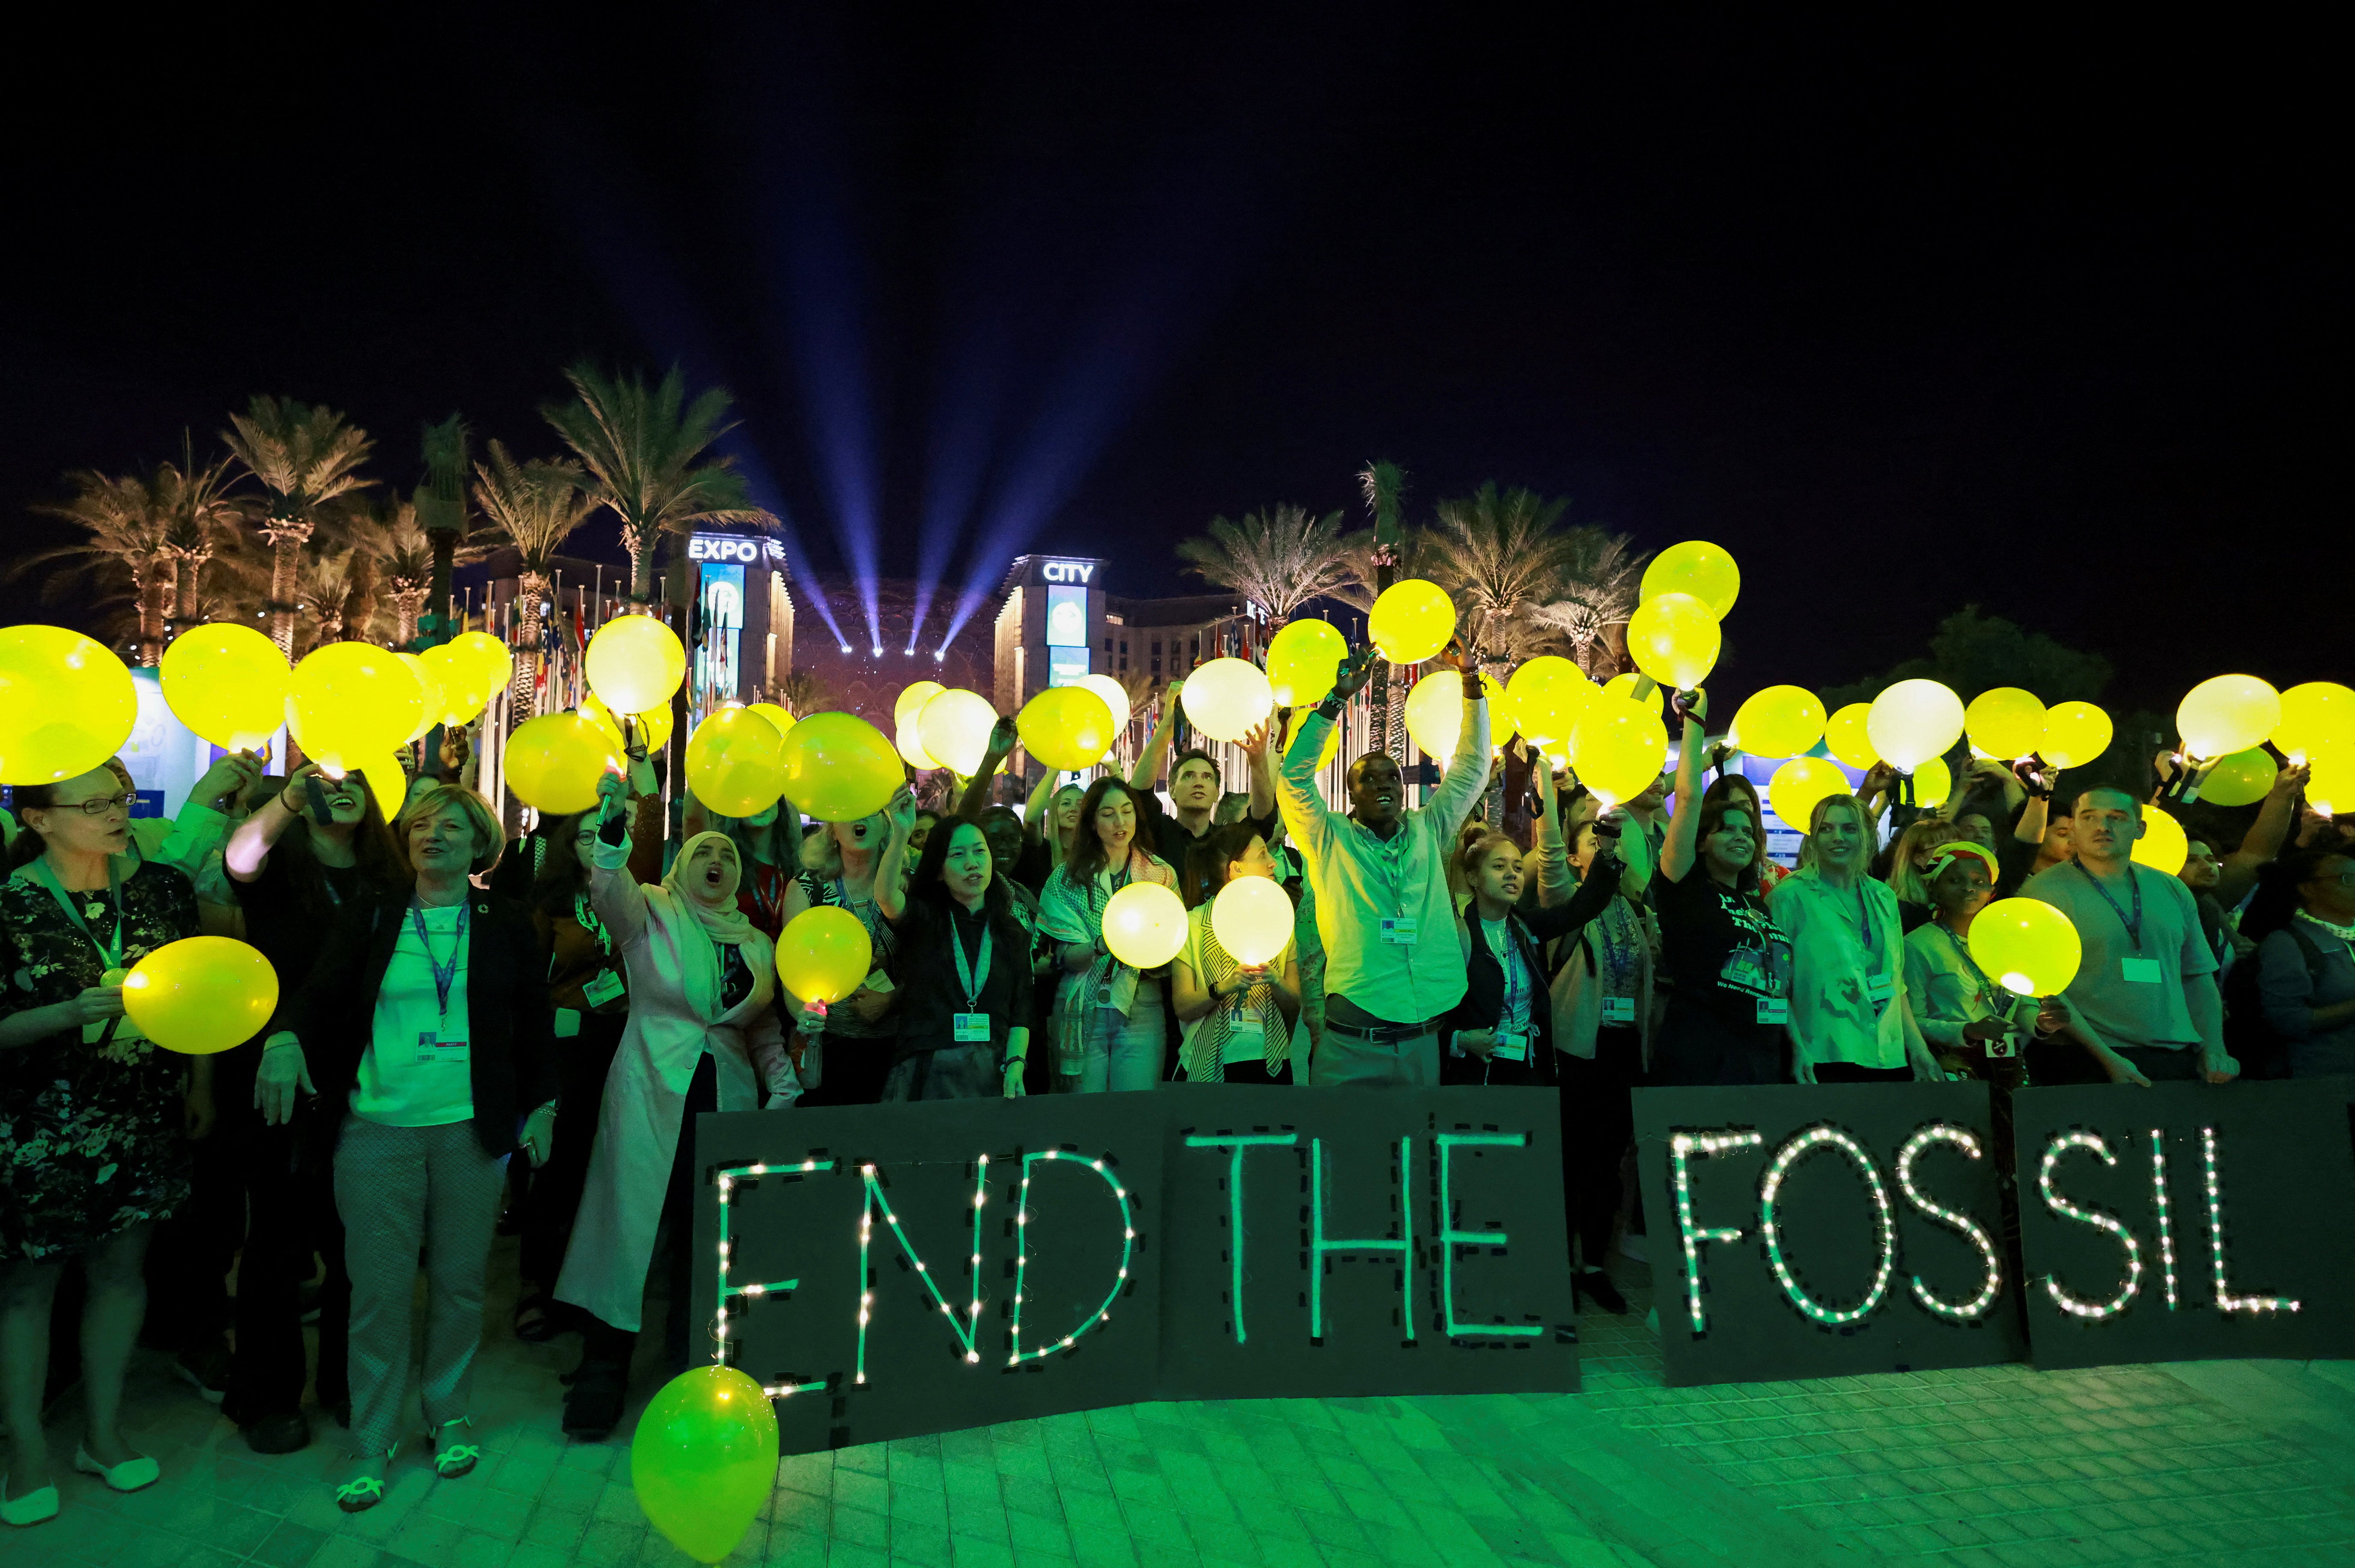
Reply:
[[[2355,1356],[2346,1078],[2023,1090],[2018,1187],[2037,1366]]]

